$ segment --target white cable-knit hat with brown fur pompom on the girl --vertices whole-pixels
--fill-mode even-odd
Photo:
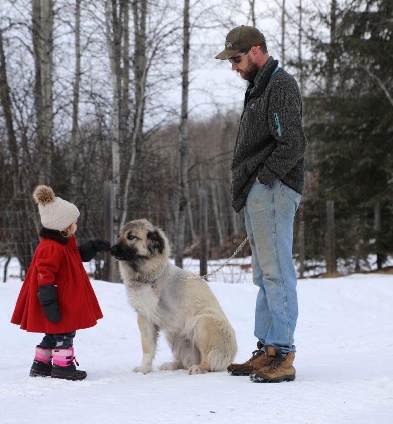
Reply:
[[[49,186],[37,186],[33,193],[45,228],[62,231],[78,219],[78,208],[54,195]]]

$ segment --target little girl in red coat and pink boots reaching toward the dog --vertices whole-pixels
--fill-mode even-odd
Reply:
[[[43,225],[39,232],[42,239],[11,322],[20,324],[26,331],[45,333],[35,349],[30,376],[82,380],[87,374],[75,368],[72,347],[75,331],[93,327],[102,318],[82,261],[90,261],[97,252],[109,251],[110,244],[105,240],[90,240],[77,247],[74,238],[77,207],[55,197],[48,186],[36,187],[33,198],[38,203]]]

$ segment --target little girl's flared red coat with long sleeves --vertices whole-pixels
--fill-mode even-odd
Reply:
[[[57,285],[61,320],[50,322],[38,301],[38,286]],[[102,312],[71,236],[67,244],[43,238],[23,282],[11,322],[34,333],[69,333],[93,327]]]

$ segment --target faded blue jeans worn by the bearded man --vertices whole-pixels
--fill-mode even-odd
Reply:
[[[259,287],[254,334],[263,345],[280,347],[283,356],[296,351],[293,333],[298,307],[292,238],[300,198],[280,180],[268,185],[255,180],[244,210],[252,279]]]

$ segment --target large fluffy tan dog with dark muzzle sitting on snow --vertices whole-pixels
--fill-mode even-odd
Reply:
[[[162,364],[160,370],[203,374],[223,371],[233,362],[235,331],[207,282],[181,279],[195,275],[169,263],[170,245],[162,229],[146,219],[128,222],[110,252],[119,261],[128,300],[138,316],[143,357],[133,371],[152,371],[160,331],[174,355],[174,362]]]

